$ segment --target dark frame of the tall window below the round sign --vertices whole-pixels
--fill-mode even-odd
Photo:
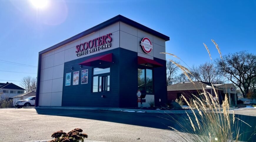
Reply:
[[[138,69],[143,69],[143,70],[145,70],[144,72],[145,72],[145,74],[144,74],[144,82],[145,82],[145,87],[144,87],[144,89],[145,89],[145,93],[147,94],[147,95],[154,95],[154,68],[151,68],[151,67],[148,67],[148,66],[138,66]],[[139,82],[138,82],[138,73],[139,73],[139,71],[138,71],[138,69],[137,69],[137,89],[139,89],[138,88],[138,85],[139,85]],[[150,69],[150,70],[152,70],[152,85],[153,85],[153,87],[152,87],[152,93],[147,93],[147,69]]]

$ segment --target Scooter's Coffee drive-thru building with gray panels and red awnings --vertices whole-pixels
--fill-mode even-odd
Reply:
[[[165,106],[162,52],[168,40],[118,15],[44,49],[39,52],[36,106]]]

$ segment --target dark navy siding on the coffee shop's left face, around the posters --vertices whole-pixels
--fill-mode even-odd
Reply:
[[[92,67],[82,66],[79,63],[92,57],[113,53],[114,63],[110,64],[110,91],[107,93],[92,93]],[[77,107],[119,107],[119,48],[112,49],[103,53],[69,61],[64,64],[64,81],[66,73],[79,71],[79,85],[65,86],[63,82],[62,106]],[[73,70],[71,70],[73,67]],[[81,71],[88,69],[88,84],[81,84]],[[104,95],[105,97],[101,97]]]

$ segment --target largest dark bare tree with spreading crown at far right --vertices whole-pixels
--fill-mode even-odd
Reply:
[[[256,55],[240,51],[216,59],[216,64],[218,70],[240,88],[246,98],[252,79],[256,77]]]

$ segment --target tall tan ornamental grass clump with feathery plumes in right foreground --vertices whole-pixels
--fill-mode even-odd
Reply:
[[[222,55],[220,52],[220,48],[218,47],[217,43],[212,40],[215,47],[217,48],[220,58],[222,59]],[[205,44],[204,44],[205,45]],[[207,52],[211,58],[210,51],[208,47],[205,45]],[[172,54],[169,54],[172,55]],[[172,61],[171,59],[169,59]],[[184,66],[177,64],[176,62],[172,61],[177,67],[179,67],[185,74],[187,78],[191,82],[192,79],[188,76],[187,68]],[[177,124],[176,127],[169,127],[170,129],[174,130],[174,133],[177,134],[178,138],[176,137],[175,140],[170,138],[171,141],[194,141],[194,142],[237,142],[241,137],[240,133],[240,125],[245,124],[249,127],[249,124],[244,122],[243,120],[235,117],[235,113],[230,114],[229,112],[229,101],[228,96],[225,94],[225,97],[222,98],[215,90],[216,87],[212,85],[213,92],[209,93],[205,90],[202,86],[202,91],[199,95],[193,95],[193,100],[188,101],[183,95],[183,100],[189,106],[191,113],[186,111],[184,115],[176,115],[175,118],[171,115],[167,114],[172,120]],[[201,93],[202,92],[202,93]],[[200,96],[200,97],[199,97]],[[223,100],[222,100],[223,99]],[[220,101],[221,100],[221,101]],[[194,110],[194,108],[196,108]],[[253,133],[255,134],[255,133]]]

